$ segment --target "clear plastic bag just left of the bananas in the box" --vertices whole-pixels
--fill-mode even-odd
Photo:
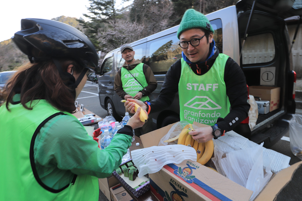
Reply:
[[[159,143],[158,143],[158,146],[166,146],[166,145],[170,145],[170,144],[177,144],[177,140],[175,140],[175,141],[172,141],[172,142],[169,142],[169,143],[167,143],[167,142],[164,142],[165,140],[169,140],[169,139],[171,139],[171,138],[173,138],[173,137],[176,137],[176,136],[178,136],[178,134],[180,133],[180,132],[182,132],[182,129],[184,129],[184,127],[186,126],[186,125],[188,125],[189,123],[187,122],[187,121],[179,121],[179,122],[177,122],[176,124],[174,124],[171,128],[170,128],[170,130],[169,130],[169,132],[167,133],[167,134],[165,134],[165,136],[164,137],[162,137],[162,139],[160,139],[160,141],[159,141]],[[198,128],[198,126],[196,126],[196,125],[192,125],[192,127],[194,128],[194,129],[197,129]]]

